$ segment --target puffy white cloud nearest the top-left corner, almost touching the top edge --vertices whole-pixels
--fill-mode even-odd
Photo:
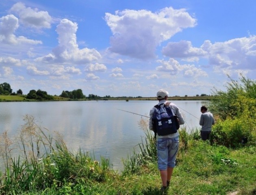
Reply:
[[[10,11],[17,13],[19,15],[20,22],[26,26],[34,28],[51,28],[52,17],[47,11],[39,11],[37,8],[32,9],[30,7],[26,7],[22,2],[14,4]]]

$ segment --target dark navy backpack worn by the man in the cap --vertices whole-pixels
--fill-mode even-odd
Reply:
[[[173,134],[180,128],[177,116],[172,113],[169,104],[170,102],[167,102],[167,104],[154,106],[157,109],[153,114],[152,124],[154,132],[158,135]]]

